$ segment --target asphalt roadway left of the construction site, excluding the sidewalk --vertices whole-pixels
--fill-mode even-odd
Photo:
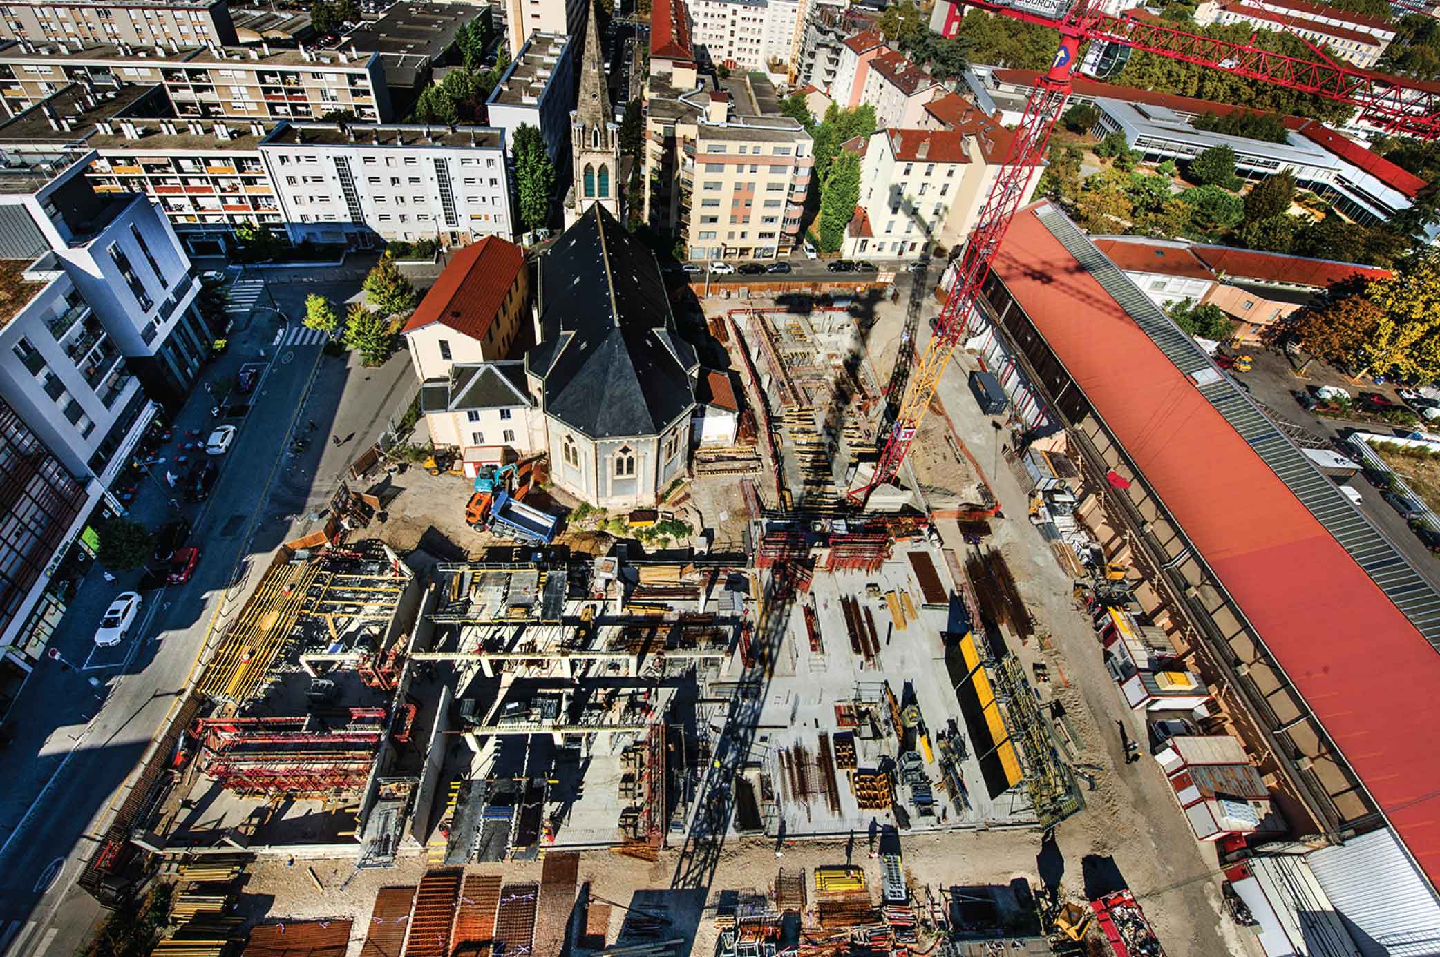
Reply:
[[[89,659],[92,668],[62,671],[46,662],[16,705],[24,725],[53,724],[55,733],[39,748],[12,745],[0,756],[0,773],[26,784],[9,789],[7,797],[30,799],[20,820],[7,822],[0,846],[0,934],[9,935],[9,954],[75,953],[84,943],[99,908],[73,888],[73,881],[94,849],[92,835],[99,833],[99,819],[108,819],[104,812],[183,691],[232,576],[242,579],[248,571],[242,558],[251,554],[256,520],[287,459],[285,445],[301,397],[321,357],[320,343],[276,350],[269,315],[252,314],[248,325],[232,332],[229,353],[203,373],[204,383],[217,383],[235,376],[245,361],[268,363],[249,413],[236,422],[239,433],[209,499],[181,505],[193,524],[192,541],[204,553],[194,577],[183,586],[144,593],[141,626],[112,649],[114,661],[95,665],[91,650],[96,610],[117,591],[132,587],[130,577],[138,573],[105,581],[98,567],[92,570],[56,639],[68,661],[79,666]],[[197,387],[196,399],[177,419],[177,440],[184,439],[183,429],[203,432],[213,425],[210,404],[210,396]],[[184,453],[174,443],[168,452]],[[143,515],[140,507],[150,501],[151,515],[158,507],[160,517],[168,517],[166,498],[158,484],[148,489],[143,485],[135,515]],[[98,691],[91,688],[91,678],[99,679]],[[104,697],[102,704],[96,694]],[[36,771],[46,774],[37,790]]]

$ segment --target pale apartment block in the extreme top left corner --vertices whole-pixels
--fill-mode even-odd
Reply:
[[[226,0],[170,3],[32,3],[0,7],[0,39],[69,43],[131,43],[134,46],[203,46],[236,43]]]

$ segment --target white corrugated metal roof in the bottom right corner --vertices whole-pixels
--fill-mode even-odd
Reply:
[[[1388,827],[1306,856],[1365,957],[1440,954],[1440,899]]]

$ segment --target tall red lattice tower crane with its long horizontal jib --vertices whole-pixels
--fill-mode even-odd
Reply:
[[[971,311],[975,308],[981,286],[989,276],[1001,240],[1005,239],[1009,222],[1025,196],[1025,187],[1045,155],[1050,131],[1054,130],[1056,119],[1070,96],[1070,79],[1080,60],[1083,43],[1106,40],[1188,63],[1200,63],[1227,73],[1351,104],[1359,108],[1361,117],[1367,121],[1390,132],[1408,134],[1421,140],[1440,137],[1440,88],[1411,86],[1394,76],[1356,71],[1335,63],[1320,50],[1316,50],[1320,60],[1303,60],[1246,43],[1214,40],[1185,33],[1153,17],[1138,19],[1102,13],[1099,0],[1077,0],[1067,10],[1060,10],[1057,4],[1058,16],[1056,17],[992,0],[952,1],[966,3],[996,16],[1054,27],[1060,33],[1060,49],[1056,52],[1056,60],[1050,71],[1037,78],[1030,99],[1025,102],[1025,112],[1015,130],[1009,154],[995,177],[975,229],[960,253],[955,284],[935,321],[935,334],[910,377],[894,426],[886,437],[878,462],[876,462],[876,472],[867,485],[850,492],[850,499],[858,505],[865,504],[874,488],[896,476],[910,443],[914,440],[916,429],[930,406],[930,397],[935,394],[940,376],[965,331]]]

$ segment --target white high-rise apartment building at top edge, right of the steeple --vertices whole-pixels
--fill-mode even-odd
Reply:
[[[713,63],[763,71],[791,66],[804,39],[809,0],[693,0],[691,42]]]

